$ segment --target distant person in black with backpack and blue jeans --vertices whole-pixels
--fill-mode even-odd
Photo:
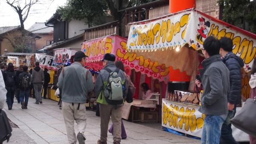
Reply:
[[[23,73],[19,75],[21,109],[27,109],[29,101],[29,90],[31,75],[27,72],[28,66],[23,66]],[[24,101],[25,98],[25,101]]]

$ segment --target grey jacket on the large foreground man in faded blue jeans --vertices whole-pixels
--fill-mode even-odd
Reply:
[[[228,113],[227,93],[230,90],[230,76],[220,55],[213,55],[202,61],[199,69],[204,92],[199,112],[205,115],[224,115]]]

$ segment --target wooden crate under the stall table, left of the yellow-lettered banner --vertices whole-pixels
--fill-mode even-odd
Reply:
[[[158,123],[158,112],[141,111],[139,116],[140,122]]]

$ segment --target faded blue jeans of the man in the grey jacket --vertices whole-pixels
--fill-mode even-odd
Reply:
[[[221,126],[227,115],[205,115],[201,144],[218,144],[221,136]]]

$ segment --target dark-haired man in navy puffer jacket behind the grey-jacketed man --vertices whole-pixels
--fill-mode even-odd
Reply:
[[[220,144],[238,144],[232,136],[230,119],[236,114],[236,106],[241,102],[242,78],[241,68],[244,61],[233,54],[233,41],[228,37],[221,37],[220,54],[223,63],[230,71],[230,92],[227,94],[227,118],[221,127]]]

